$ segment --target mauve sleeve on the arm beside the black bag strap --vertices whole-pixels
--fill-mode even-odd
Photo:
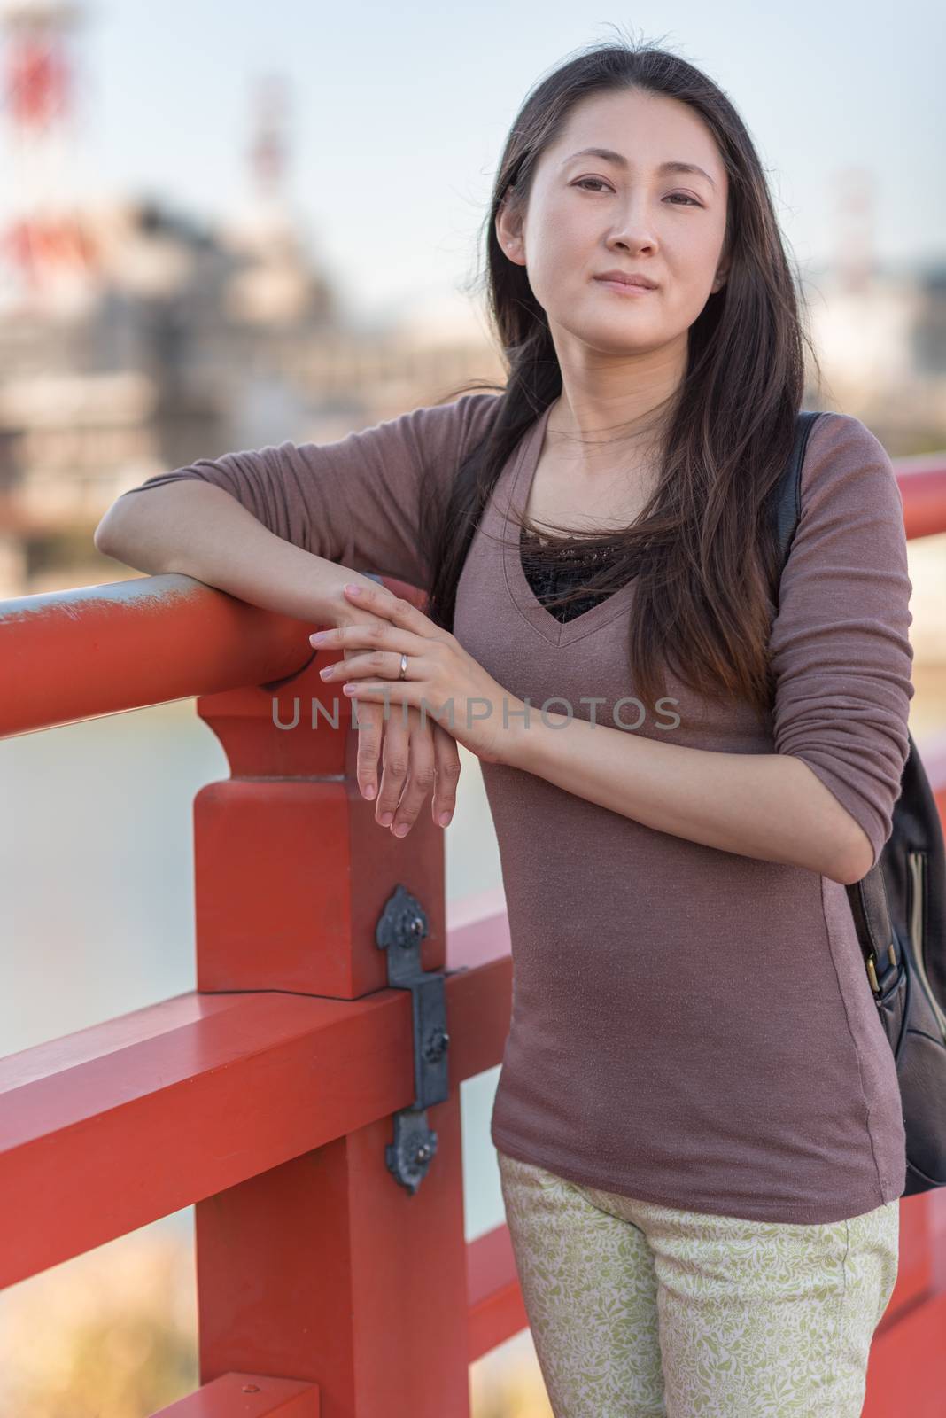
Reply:
[[[773,737],[864,828],[877,864],[909,752],[912,584],[891,459],[848,414],[823,414],[772,625]]]

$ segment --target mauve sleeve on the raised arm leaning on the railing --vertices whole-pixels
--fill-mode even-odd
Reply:
[[[425,587],[421,499],[449,491],[462,458],[489,431],[500,400],[493,393],[463,394],[336,442],[282,442],[198,458],[122,496],[184,479],[210,482],[285,542],[355,571]]]

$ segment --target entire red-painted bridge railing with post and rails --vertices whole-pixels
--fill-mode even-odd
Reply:
[[[896,469],[908,536],[946,530],[946,457]],[[510,1018],[501,893],[448,919],[442,830],[378,831],[314,623],[154,576],[0,603],[0,736],[195,698],[232,774],[194,800],[197,988],[0,1059],[0,1285],[194,1205],[201,1388],[163,1414],[467,1418],[469,1364],[527,1324],[507,1228],[463,1229],[459,1085]],[[946,818],[946,740],[921,752]],[[375,939],[398,886],[449,1024],[423,1113],[428,1005]],[[388,1149],[423,1120],[412,1191]],[[943,1202],[901,1201],[865,1418],[942,1411]]]

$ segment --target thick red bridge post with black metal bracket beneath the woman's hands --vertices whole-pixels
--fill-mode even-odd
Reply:
[[[426,915],[423,968],[445,966],[442,830],[428,804],[404,839],[375,822],[354,776],[353,706],[317,676],[329,658],[278,685],[198,699],[232,774],[194,801],[201,991],[388,991],[375,927],[398,885]],[[412,998],[397,993],[408,1107]],[[326,1107],[334,1079],[350,1099],[353,1071],[371,1088],[370,1039],[368,1064],[344,1051],[312,1059]],[[385,1041],[374,1042],[382,1059]],[[276,1090],[266,1099],[276,1133],[282,1105]],[[343,1100],[340,1130],[346,1112]],[[385,1164],[394,1129],[382,1115],[197,1202],[201,1384],[253,1371],[317,1383],[321,1418],[467,1418],[459,1086],[426,1122],[438,1147],[415,1193]]]

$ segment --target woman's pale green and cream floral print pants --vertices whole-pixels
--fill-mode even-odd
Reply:
[[[899,1201],[748,1221],[497,1160],[555,1418],[860,1418]]]

